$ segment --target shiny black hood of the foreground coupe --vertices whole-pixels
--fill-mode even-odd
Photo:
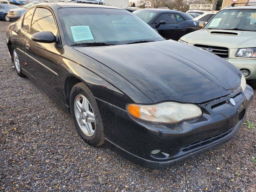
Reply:
[[[153,102],[201,103],[240,85],[241,72],[227,61],[172,40],[74,49],[126,78]]]

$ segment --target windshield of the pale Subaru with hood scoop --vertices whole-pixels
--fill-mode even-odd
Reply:
[[[229,9],[218,12],[204,29],[256,31],[255,9]]]

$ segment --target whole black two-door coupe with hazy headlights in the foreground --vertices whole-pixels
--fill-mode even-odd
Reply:
[[[7,45],[28,76],[71,112],[90,145],[160,169],[232,138],[253,98],[220,57],[164,40],[110,6],[42,3],[9,25]]]

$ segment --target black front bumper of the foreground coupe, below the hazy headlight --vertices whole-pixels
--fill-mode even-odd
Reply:
[[[233,106],[229,98],[236,101]],[[199,104],[203,115],[179,124],[152,124],[97,100],[105,132],[105,145],[128,160],[150,169],[161,169],[194,154],[209,150],[232,138],[252,103],[249,85],[228,96]],[[152,155],[152,150],[161,152]]]

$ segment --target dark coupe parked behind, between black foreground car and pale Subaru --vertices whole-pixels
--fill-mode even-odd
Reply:
[[[200,21],[193,21],[186,13],[166,9],[140,9],[133,12],[140,19],[156,29],[165,38],[178,41],[180,37],[202,27]]]

